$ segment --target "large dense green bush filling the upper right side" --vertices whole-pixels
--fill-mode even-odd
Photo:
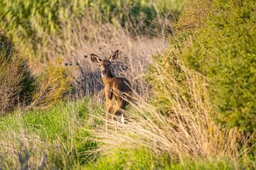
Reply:
[[[255,131],[256,2],[188,1],[186,9],[171,43],[189,68],[207,77],[210,114],[225,127]]]

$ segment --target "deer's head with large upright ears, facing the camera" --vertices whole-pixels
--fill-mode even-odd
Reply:
[[[117,60],[118,50],[114,52],[107,60],[101,60],[97,55],[91,54],[92,62],[96,62],[100,66],[100,72],[102,77],[105,77],[108,73],[110,73],[110,63],[114,60]]]

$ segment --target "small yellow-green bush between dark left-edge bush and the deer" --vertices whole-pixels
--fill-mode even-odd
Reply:
[[[62,62],[63,60],[58,58],[54,64],[43,70],[36,81],[36,89],[31,95],[33,102],[28,108],[52,106],[65,99],[73,77],[69,69],[61,65]]]

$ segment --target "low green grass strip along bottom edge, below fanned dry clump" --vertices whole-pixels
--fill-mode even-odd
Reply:
[[[248,163],[248,162],[247,162]],[[230,161],[230,159],[171,159],[166,154],[154,154],[145,148],[116,149],[112,154],[92,162],[86,169],[253,169],[255,163],[248,164]]]

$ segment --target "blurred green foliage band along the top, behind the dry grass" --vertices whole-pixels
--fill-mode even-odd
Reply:
[[[183,1],[178,0],[3,0],[0,1],[0,30],[12,35],[14,42],[18,42],[30,61],[45,62],[49,60],[45,54],[48,36],[58,36],[61,27],[67,29],[71,36],[70,21],[90,18],[98,25],[121,23],[122,26],[128,26],[131,32],[137,33],[146,28],[151,30],[151,27],[158,27],[156,24],[159,23],[152,24],[155,18],[174,20],[182,6]],[[168,15],[165,16],[165,13]]]

